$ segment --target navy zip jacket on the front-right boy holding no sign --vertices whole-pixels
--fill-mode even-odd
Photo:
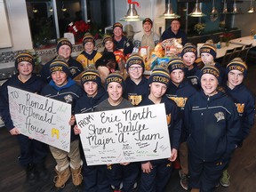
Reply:
[[[189,153],[204,161],[228,159],[239,140],[240,119],[236,106],[223,92],[207,96],[203,90],[185,107]]]

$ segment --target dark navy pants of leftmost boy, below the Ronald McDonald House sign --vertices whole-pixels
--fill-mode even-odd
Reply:
[[[31,140],[27,136],[19,134],[16,136],[20,145],[19,163],[27,167],[28,164],[44,164],[48,155],[48,145],[38,140]]]

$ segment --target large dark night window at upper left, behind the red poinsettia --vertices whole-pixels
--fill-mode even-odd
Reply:
[[[92,35],[104,32],[114,15],[113,0],[26,0],[26,4],[34,47],[55,43],[78,20],[90,21]]]

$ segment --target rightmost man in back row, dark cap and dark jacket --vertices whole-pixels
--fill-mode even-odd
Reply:
[[[176,38],[183,46],[187,43],[187,35],[180,29],[180,20],[171,20],[171,27],[164,30],[164,33],[161,36],[161,41],[169,38]]]

